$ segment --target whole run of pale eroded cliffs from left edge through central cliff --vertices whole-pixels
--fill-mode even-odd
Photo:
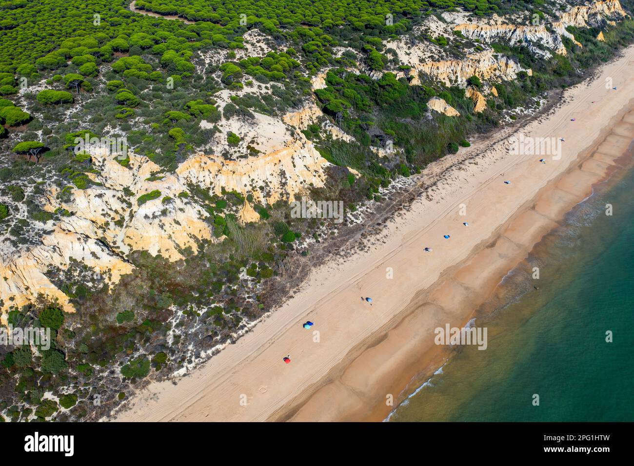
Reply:
[[[66,209],[70,215],[56,224],[49,221],[53,231],[43,235],[39,245],[0,251],[3,324],[11,306],[36,302],[38,295],[73,312],[68,296],[46,275],[51,269],[67,269],[72,259],[99,273],[106,282],[117,283],[133,271],[126,257],[134,250],[177,261],[186,248],[196,252],[200,240],[214,241],[212,226],[205,221],[209,214],[191,197],[179,196],[188,192],[188,183],[209,188],[217,195],[223,188],[245,196],[252,193],[262,204],[323,186],[324,169],[329,164],[313,143],[279,119],[257,113],[254,117],[223,120],[219,125],[224,130],[216,135],[221,150],[228,148],[225,131],[229,130],[242,138],[238,148],[242,153],[249,153],[247,145],[260,151],[236,160],[198,153],[176,172],[162,173],[159,165],[131,152],[126,167],[105,150],[91,152],[97,173],[88,172],[87,176],[98,184],[75,189],[68,198],[58,196],[53,187],[41,199],[44,210]],[[139,205],[139,197],[152,192],[160,194]],[[258,221],[259,215],[245,202],[238,219],[249,223]]]

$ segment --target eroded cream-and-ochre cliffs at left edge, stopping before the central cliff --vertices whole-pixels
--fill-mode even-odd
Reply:
[[[56,224],[49,221],[53,231],[45,233],[39,245],[2,251],[3,313],[10,306],[35,302],[38,295],[73,312],[68,296],[47,277],[51,270],[67,269],[72,260],[84,264],[105,282],[117,283],[134,268],[126,260],[133,250],[147,250],[175,261],[183,257],[180,251],[186,247],[196,251],[198,239],[212,238],[204,221],[206,212],[178,196],[187,188],[177,176],[150,181],[160,167],[133,153],[128,167],[103,151],[91,155],[100,174],[88,175],[101,186],[73,190],[68,200],[60,200],[56,188],[51,188],[41,199],[44,210],[67,209],[70,215]],[[139,196],[155,190],[161,193],[158,198],[138,205]],[[168,196],[171,199],[164,202]]]

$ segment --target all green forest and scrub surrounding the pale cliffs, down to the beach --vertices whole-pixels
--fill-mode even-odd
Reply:
[[[623,3],[631,7],[630,1]],[[475,113],[461,87],[424,75],[416,86],[398,78],[397,72],[408,67],[383,40],[413,34],[413,27],[437,10],[462,7],[475,15],[539,11],[543,16],[552,15],[552,1],[136,4],[196,23],[141,15],[127,6],[124,0],[0,3],[0,233],[11,244],[37,244],[51,220],[73,214],[61,207],[55,212],[42,209],[38,199],[45,194],[44,180],[56,187],[60,200],[68,200],[73,190],[98,185],[89,177],[100,174],[91,155],[73,151],[74,139],[86,133],[89,138],[126,136],[135,153],[161,167],[149,174],[148,181],[156,181],[208,146],[219,131],[214,125],[223,119],[249,119],[254,112],[281,117],[314,98],[328,122],[353,139],[333,139],[319,124],[304,129],[306,138],[335,165],[328,169],[326,185],[311,188],[311,195],[343,200],[354,210],[361,200],[379,200],[380,188],[392,179],[420,172],[439,157],[469,146],[469,134],[498,126],[504,114],[550,89],[578,82],[586,70],[634,41],[634,23],[628,20],[604,31],[605,42],[597,41],[598,29],[571,28],[583,48],[566,40],[569,54],[550,60],[526,47],[493,44],[496,53],[515,58],[533,75],[522,72],[515,82],[496,83],[498,95],[489,94],[488,108]],[[244,34],[254,29],[276,48],[262,56],[236,58],[244,48]],[[434,43],[460,56],[460,47],[452,42],[456,37],[438,37]],[[458,39],[462,46],[482,49]],[[338,55],[338,47],[346,51]],[[223,58],[208,63],[205,56]],[[326,86],[313,93],[310,79],[324,70]],[[267,86],[269,92],[243,91],[254,84]],[[469,84],[482,88],[487,83],[474,76]],[[222,111],[219,91],[230,93]],[[456,108],[460,117],[429,112],[427,101],[434,96]],[[200,125],[203,119],[209,127]],[[230,148],[245,143],[233,131],[217,136]],[[388,157],[380,157],[375,148]],[[257,154],[252,146],[247,150],[239,157]],[[130,165],[129,157],[117,162]],[[348,167],[361,176],[356,178]],[[123,192],[130,209],[152,200],[146,207],[160,205],[162,215],[173,208],[174,199],[160,190]],[[0,400],[6,400],[0,411],[10,420],[86,417],[98,409],[94,402],[101,394],[104,403],[126,398],[121,390],[127,391],[127,385],[120,384],[192,363],[188,347],[211,349],[245,319],[259,318],[275,299],[254,290],[284,276],[289,257],[311,254],[302,240],[323,240],[318,232],[325,222],[290,217],[286,200],[265,206],[252,194],[223,189],[216,195],[194,184],[179,193],[181,199],[204,210],[212,235],[222,241],[200,240],[197,252],[179,251],[184,259],[176,262],[131,251],[125,259],[134,271],[112,289],[92,269],[71,261],[67,270],[51,269],[47,276],[76,313],[64,313],[51,302],[11,310],[11,325],[51,328],[53,342],[37,353],[28,346],[0,353]],[[245,200],[254,205],[261,222],[238,223],[236,214]],[[16,218],[22,211],[25,218]],[[117,226],[127,220],[123,214],[111,219]],[[62,388],[68,386],[73,390]],[[55,392],[58,403],[43,399],[46,391]]]

